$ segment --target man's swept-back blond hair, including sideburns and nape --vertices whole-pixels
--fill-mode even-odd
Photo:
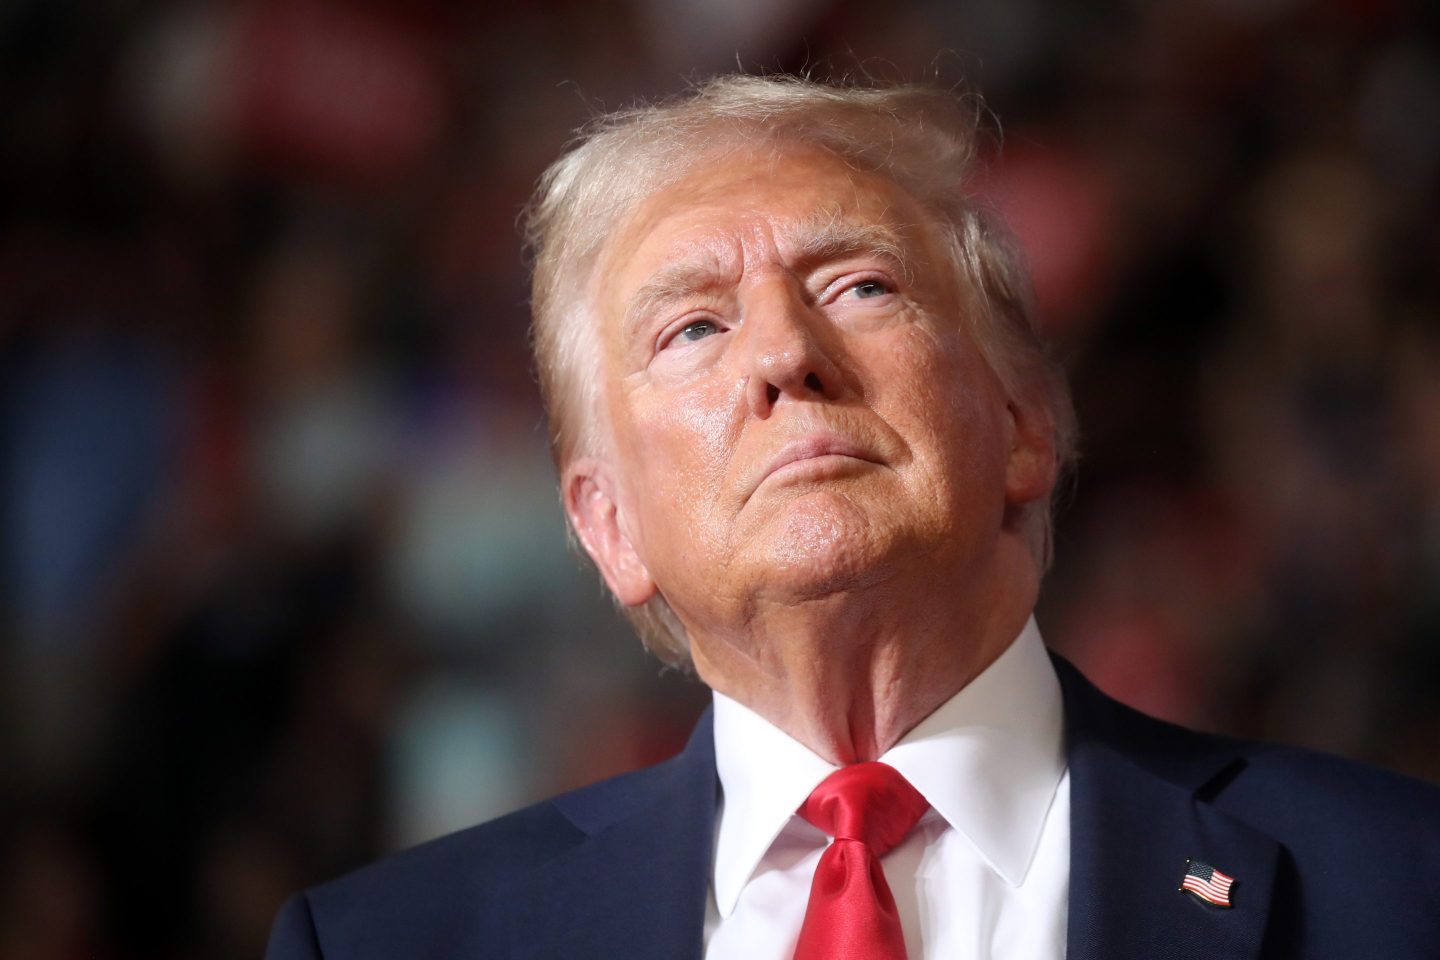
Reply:
[[[973,99],[935,86],[736,75],[592,121],[540,177],[524,217],[531,343],[562,474],[600,452],[600,371],[585,331],[595,324],[588,291],[605,240],[648,197],[727,151],[759,145],[824,150],[890,178],[933,216],[965,295],[963,321],[1007,396],[1048,416],[1063,472],[1074,456],[1074,410],[1035,328],[1018,250],[972,191],[979,118]],[[1035,505],[1025,522],[1044,570],[1050,505]],[[657,656],[688,666],[688,640],[662,596],[626,616]]]

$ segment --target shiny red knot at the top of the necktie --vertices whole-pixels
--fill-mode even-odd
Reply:
[[[825,777],[799,815],[835,839],[860,841],[884,856],[927,809],[930,803],[899,770],[868,760]]]

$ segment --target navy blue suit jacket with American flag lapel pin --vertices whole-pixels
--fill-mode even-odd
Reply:
[[[1071,960],[1440,959],[1440,790],[1138,714],[1057,661],[1070,759]],[[716,796],[684,753],[291,900],[268,960],[698,960]],[[1187,859],[1231,908],[1179,892]]]

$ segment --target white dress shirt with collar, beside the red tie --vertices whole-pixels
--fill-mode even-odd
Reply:
[[[706,960],[791,960],[828,843],[795,810],[837,767],[719,692],[714,735]],[[930,802],[881,861],[910,960],[1061,960],[1070,782],[1060,682],[1034,619],[880,760]]]

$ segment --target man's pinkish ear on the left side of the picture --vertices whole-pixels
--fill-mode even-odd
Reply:
[[[582,456],[566,468],[563,482],[564,512],[611,593],[625,606],[654,597],[658,587],[625,531],[609,465]]]

